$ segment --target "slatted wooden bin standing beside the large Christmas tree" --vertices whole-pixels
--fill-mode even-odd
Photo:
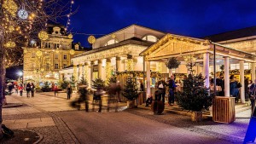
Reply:
[[[235,98],[215,96],[212,105],[212,120],[224,124],[234,122],[236,120]]]

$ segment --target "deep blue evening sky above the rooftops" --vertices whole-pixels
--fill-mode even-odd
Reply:
[[[256,26],[256,0],[74,0],[72,32],[108,34],[137,24],[190,37]],[[70,29],[69,28],[69,29]],[[87,35],[74,41],[88,47]]]

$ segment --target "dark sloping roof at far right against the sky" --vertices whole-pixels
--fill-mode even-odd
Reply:
[[[222,32],[211,36],[203,37],[204,39],[211,40],[212,42],[222,42],[231,39],[237,39],[241,37],[252,37],[256,36],[256,26],[242,28],[230,32]]]

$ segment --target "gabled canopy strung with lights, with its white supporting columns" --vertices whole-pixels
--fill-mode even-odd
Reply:
[[[224,64],[224,85],[225,96],[230,96],[230,63],[240,63],[240,77],[241,85],[244,86],[244,73],[243,63],[253,63],[252,78],[255,78],[255,56],[247,52],[233,49],[224,46],[219,43],[212,43],[205,39],[199,39],[195,37],[183,37],[179,35],[173,35],[167,33],[165,37],[162,37],[158,42],[154,43],[148,49],[143,50],[140,54],[144,56],[146,63],[146,76],[147,76],[147,95],[150,95],[150,61],[166,61],[171,57],[176,57],[177,60],[186,61],[189,55],[192,55],[194,62],[202,64],[202,74],[206,76],[206,86],[209,87],[209,66],[213,65],[213,52],[214,47],[216,50],[216,61],[218,65]],[[241,88],[244,89],[244,88]],[[244,95],[241,94],[241,100],[243,101]]]

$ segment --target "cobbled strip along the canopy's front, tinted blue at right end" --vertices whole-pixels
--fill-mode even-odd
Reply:
[[[230,143],[242,143],[250,120],[249,118],[236,118],[236,121],[232,124],[218,124],[209,120],[192,122],[187,116],[171,113],[154,115],[144,109],[127,109],[125,112],[131,112],[143,118],[153,119],[160,123],[170,124],[195,133],[212,136],[219,140],[229,141]]]

